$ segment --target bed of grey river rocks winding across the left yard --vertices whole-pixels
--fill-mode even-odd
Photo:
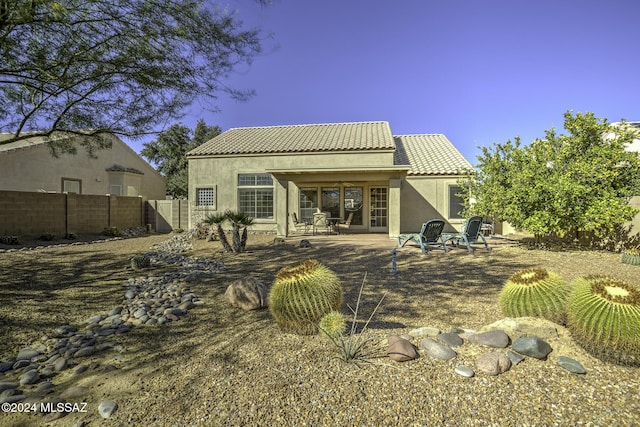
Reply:
[[[114,239],[121,237],[104,241]],[[55,376],[72,368],[75,374],[95,369],[95,364],[83,363],[83,359],[109,350],[126,352],[115,339],[118,335],[128,333],[134,327],[178,321],[189,310],[203,304],[191,292],[187,282],[222,271],[224,266],[214,260],[181,255],[191,247],[188,235],[173,236],[154,245],[152,250],[145,253],[152,265],[170,264],[179,268],[164,274],[130,278],[123,284],[125,292],[121,305],[107,313],[89,317],[81,326],[62,325],[51,336],[43,336],[28,348],[20,350],[14,358],[1,361],[0,404],[80,397],[85,393],[70,396],[69,390],[56,396]],[[117,408],[117,403],[108,402],[100,405],[99,412],[103,417],[111,415]],[[51,413],[49,418],[45,418],[51,421],[57,416],[60,414]]]

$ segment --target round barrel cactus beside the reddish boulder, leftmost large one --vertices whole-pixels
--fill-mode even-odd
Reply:
[[[336,274],[309,260],[282,268],[269,293],[269,311],[285,332],[311,335],[324,315],[342,305],[342,284]]]

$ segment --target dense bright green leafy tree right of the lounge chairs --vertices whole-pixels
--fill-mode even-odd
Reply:
[[[626,151],[634,134],[593,113],[564,114],[566,134],[554,129],[522,146],[483,147],[475,173],[463,180],[471,212],[507,221],[537,236],[572,231],[604,235],[633,218],[640,156]]]

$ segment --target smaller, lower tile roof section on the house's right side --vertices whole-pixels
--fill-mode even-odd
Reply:
[[[396,165],[410,165],[408,175],[457,175],[472,165],[442,134],[396,135]]]

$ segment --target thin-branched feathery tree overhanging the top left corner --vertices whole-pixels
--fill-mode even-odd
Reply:
[[[75,152],[56,136],[76,133],[95,136],[91,154],[102,133],[151,133],[196,100],[251,96],[223,81],[259,51],[213,0],[0,0],[0,143],[40,135]]]

